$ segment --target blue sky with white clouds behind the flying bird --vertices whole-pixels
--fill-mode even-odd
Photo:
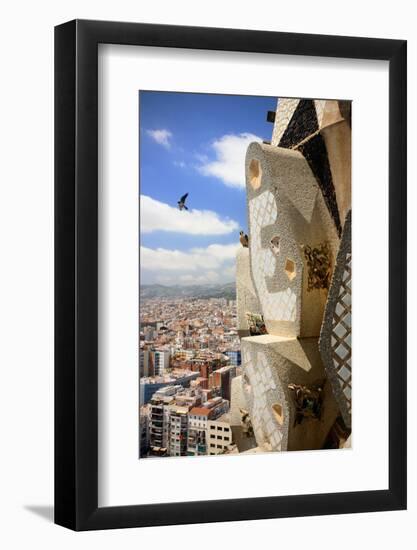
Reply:
[[[234,279],[247,232],[244,157],[269,140],[273,97],[139,92],[141,282]],[[177,201],[188,192],[189,211]]]

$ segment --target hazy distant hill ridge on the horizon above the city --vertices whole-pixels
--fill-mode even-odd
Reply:
[[[140,297],[147,298],[226,298],[236,300],[236,284],[223,285],[141,285]]]

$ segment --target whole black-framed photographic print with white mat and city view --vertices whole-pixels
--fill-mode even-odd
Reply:
[[[56,523],[406,507],[405,41],[60,25],[55,196]]]

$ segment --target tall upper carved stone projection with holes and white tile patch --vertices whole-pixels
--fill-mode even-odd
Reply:
[[[251,274],[267,331],[318,336],[327,289],[308,291],[302,247],[327,243],[334,261],[339,237],[317,181],[300,152],[259,143],[247,150],[246,176]]]

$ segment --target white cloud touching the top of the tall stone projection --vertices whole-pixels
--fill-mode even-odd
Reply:
[[[204,176],[214,176],[229,187],[245,187],[245,155],[248,145],[262,141],[254,134],[226,134],[216,139],[211,147],[216,159],[201,159],[197,169]]]

